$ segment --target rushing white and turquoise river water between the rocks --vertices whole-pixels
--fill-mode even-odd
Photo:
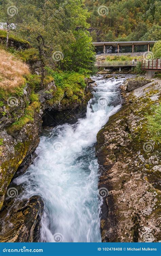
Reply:
[[[93,77],[96,86],[86,118],[44,131],[34,164],[15,181],[24,183],[23,197],[40,195],[44,200],[41,242],[101,239],[94,144],[109,116],[120,108],[119,85],[124,80],[102,77]]]

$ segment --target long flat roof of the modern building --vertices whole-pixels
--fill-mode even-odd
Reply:
[[[117,46],[131,46],[133,45],[144,45],[144,44],[154,44],[157,41],[128,41],[128,42],[93,42],[95,46],[103,46],[103,45],[112,45]]]

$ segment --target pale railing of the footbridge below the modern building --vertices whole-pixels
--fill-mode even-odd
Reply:
[[[136,66],[137,61],[132,60],[125,61],[96,61],[95,66],[97,67],[121,67],[121,66]]]

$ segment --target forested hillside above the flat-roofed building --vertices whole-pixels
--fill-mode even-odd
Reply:
[[[161,39],[161,1],[85,0],[93,41]]]

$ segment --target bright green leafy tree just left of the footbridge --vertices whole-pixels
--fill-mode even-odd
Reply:
[[[86,73],[93,74],[95,54],[89,32],[82,29],[73,31],[70,38],[66,39],[68,42],[65,43],[62,36],[67,37],[61,32],[57,37],[57,45],[55,46],[64,56],[58,62],[58,66],[64,71],[79,72],[80,69],[84,69]],[[60,45],[59,48],[58,45]]]

